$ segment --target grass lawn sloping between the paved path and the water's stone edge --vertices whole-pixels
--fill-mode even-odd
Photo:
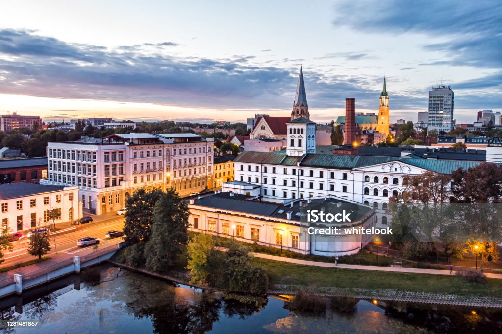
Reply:
[[[502,297],[502,279],[488,278],[486,284],[476,284],[462,281],[455,275],[326,268],[262,258],[254,258],[253,261],[267,270],[271,284],[360,287]]]

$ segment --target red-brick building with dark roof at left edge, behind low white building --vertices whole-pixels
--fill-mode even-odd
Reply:
[[[0,184],[38,183],[47,178],[47,158],[0,160]]]

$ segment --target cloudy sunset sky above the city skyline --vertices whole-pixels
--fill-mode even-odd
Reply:
[[[289,116],[303,65],[311,119],[417,121],[428,91],[455,118],[502,111],[500,1],[24,1],[0,11],[0,114],[245,121]]]

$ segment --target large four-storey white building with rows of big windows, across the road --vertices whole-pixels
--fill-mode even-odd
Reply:
[[[174,187],[181,196],[210,188],[212,148],[212,138],[191,133],[115,134],[49,143],[48,179],[41,183],[77,185],[85,209],[112,212],[139,188]]]

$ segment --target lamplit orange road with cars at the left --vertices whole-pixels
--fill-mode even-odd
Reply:
[[[123,229],[124,216],[117,215],[101,215],[93,216],[94,221],[80,226],[73,226],[65,230],[51,233],[51,254],[67,253],[73,255],[81,255],[81,252],[86,248],[77,246],[77,240],[83,237],[92,236],[100,239],[99,248],[116,244],[120,238],[105,239],[105,233],[113,230]],[[25,262],[34,259],[35,256],[28,254],[28,240],[25,237],[22,240],[14,241],[14,249],[12,252],[5,252],[6,259],[0,268],[11,266],[16,263]]]

